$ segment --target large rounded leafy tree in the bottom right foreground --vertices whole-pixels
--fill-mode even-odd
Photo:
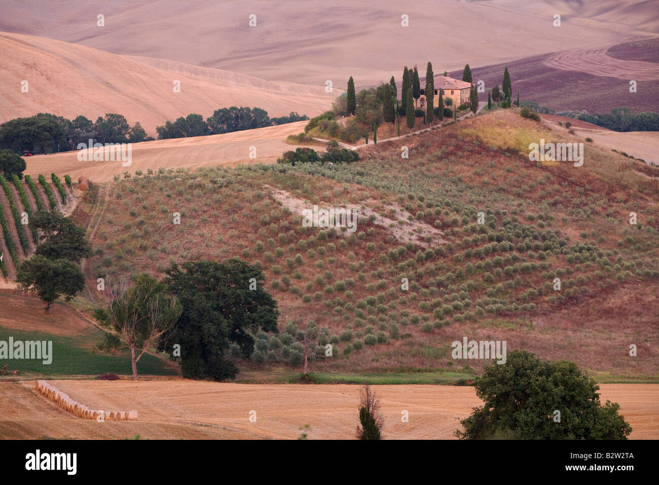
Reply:
[[[476,379],[484,406],[461,420],[463,439],[627,439],[631,426],[619,404],[600,404],[599,386],[573,362],[539,360],[525,350],[507,354]],[[560,421],[555,420],[556,410]]]

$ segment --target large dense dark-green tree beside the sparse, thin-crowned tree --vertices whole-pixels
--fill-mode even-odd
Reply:
[[[237,344],[248,358],[254,351],[252,335],[277,332],[277,302],[264,290],[264,275],[241,259],[175,264],[165,282],[183,313],[159,349],[173,356],[173,344],[181,345],[183,377],[235,379],[239,370],[225,359],[229,345]]]

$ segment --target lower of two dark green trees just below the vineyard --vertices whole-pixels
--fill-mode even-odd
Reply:
[[[46,304],[45,313],[61,296],[68,302],[84,288],[84,276],[75,263],[68,259],[50,260],[40,254],[22,262],[16,282],[18,290],[38,294]]]

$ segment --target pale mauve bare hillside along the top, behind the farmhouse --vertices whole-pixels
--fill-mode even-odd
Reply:
[[[96,24],[99,14],[105,15],[103,27]],[[560,28],[553,26],[556,14]],[[256,15],[255,27],[248,25],[250,15]],[[401,26],[401,15],[409,16],[409,27]],[[65,9],[25,0],[3,6],[0,29],[264,79],[316,86],[330,79],[345,87],[350,75],[357,86],[388,81],[392,73],[402,75],[403,65],[423,67],[428,60],[440,72],[657,34],[659,14],[653,2],[639,0],[445,1],[441,9],[435,0],[405,7],[378,0],[305,1],[304,8],[295,0],[94,1]]]

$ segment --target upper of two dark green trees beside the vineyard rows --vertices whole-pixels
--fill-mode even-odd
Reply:
[[[67,259],[73,263],[80,263],[82,258],[92,255],[92,244],[84,229],[76,226],[71,218],[63,216],[57,210],[38,210],[30,218],[28,228],[31,231],[42,231],[36,255],[53,261]]]

